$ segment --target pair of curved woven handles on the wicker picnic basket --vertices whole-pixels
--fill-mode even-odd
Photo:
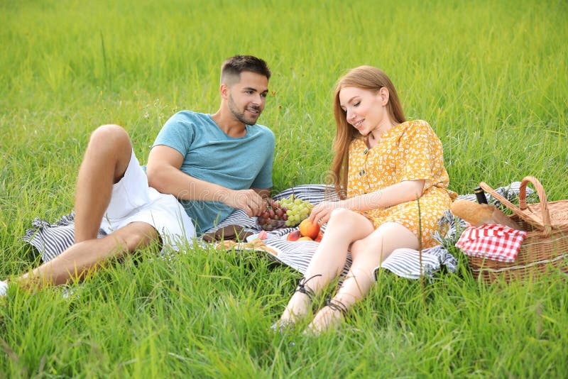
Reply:
[[[534,182],[532,182],[532,180],[537,182],[538,185],[536,185]],[[508,209],[510,209],[511,211],[513,211],[514,214],[519,216],[521,219],[527,221],[528,224],[531,224],[532,226],[535,226],[535,228],[542,231],[544,236],[546,236],[546,237],[550,236],[550,232],[551,232],[550,213],[548,212],[548,203],[547,203],[547,198],[546,198],[546,194],[545,194],[545,189],[544,189],[544,187],[542,187],[540,182],[535,177],[523,178],[523,181],[521,182],[520,189],[519,189],[519,203],[520,203],[521,207],[523,207],[523,209],[527,209],[527,183],[528,182],[531,182],[533,185],[535,185],[535,188],[540,187],[540,189],[537,189],[537,194],[538,194],[539,199],[541,199],[541,201],[542,201],[542,204],[541,204],[542,209],[541,210],[542,210],[542,221],[544,221],[544,225],[541,224],[540,221],[533,219],[530,216],[530,214],[526,214],[525,212],[523,212],[523,210],[521,210],[515,204],[508,201],[508,199],[506,199],[505,197],[501,196],[501,194],[498,194],[493,188],[489,187],[486,182],[480,182],[479,186],[481,188],[483,188],[485,192],[487,192],[488,194],[491,194],[491,196],[498,199],[501,202],[501,204],[505,204],[505,206]],[[542,198],[541,198],[541,196],[542,196]],[[521,200],[521,199],[523,199],[523,200]]]

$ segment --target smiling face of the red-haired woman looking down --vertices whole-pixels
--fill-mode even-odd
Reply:
[[[385,87],[378,92],[357,87],[344,87],[339,91],[339,104],[346,112],[347,122],[363,136],[383,125],[391,126],[387,103],[388,89]]]

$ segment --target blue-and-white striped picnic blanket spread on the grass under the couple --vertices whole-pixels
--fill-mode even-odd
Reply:
[[[520,182],[513,182],[508,187],[499,187],[496,191],[503,195],[503,197],[513,200],[515,197],[518,197],[519,186]],[[530,194],[530,192],[531,191],[528,191],[528,194]],[[289,197],[291,194],[294,194],[297,198],[307,200],[314,205],[322,200],[333,201],[339,199],[334,192],[333,186],[329,185],[299,185],[285,189],[273,196],[273,199],[283,199],[284,197]],[[496,199],[489,197],[487,194],[486,196],[490,204],[498,205]],[[459,195],[459,198],[476,201],[474,194]],[[73,212],[62,216],[55,223],[49,223],[48,221],[36,217],[32,221],[33,227],[26,231],[22,240],[34,246],[40,253],[42,260],[48,262],[72,245],[74,240],[73,220]],[[459,234],[461,234],[461,231],[466,227],[466,224],[463,220],[449,212],[449,210],[444,214],[442,219],[440,219],[439,223],[441,226],[444,226],[443,229],[445,232],[443,235],[439,232],[435,233],[434,238],[439,242],[438,246],[422,251],[422,265],[420,265],[420,255],[417,251],[412,249],[398,249],[391,253],[391,256],[384,260],[381,265],[375,268],[375,273],[377,274],[378,270],[384,268],[395,275],[409,279],[420,278],[421,274],[432,278],[434,273],[442,268],[445,268],[449,273],[454,273],[457,270],[457,259],[449,253],[448,247],[455,245]],[[205,233],[214,233],[218,229],[229,225],[239,225],[244,228],[244,231],[250,232],[249,234],[251,235],[248,237],[249,241],[255,238],[258,232],[261,231],[261,228],[256,224],[256,217],[249,217],[244,211],[237,209],[216,227],[209,229]],[[322,227],[322,230],[325,230],[324,228],[325,226]],[[313,241],[286,241],[286,235],[295,229],[296,228],[285,228],[268,232],[268,238],[266,238],[264,242],[278,253],[273,254],[266,252],[266,255],[268,258],[288,265],[290,268],[303,274],[315,253],[318,243]],[[103,231],[99,231],[99,238],[104,235]],[[205,243],[199,240],[196,242],[195,245],[197,246]],[[239,249],[238,245],[234,247]],[[242,248],[242,250],[248,249],[249,248],[245,246]],[[350,266],[351,256],[349,256],[348,253],[347,262],[343,270],[344,275],[348,272]],[[420,269],[421,267],[422,270]]]

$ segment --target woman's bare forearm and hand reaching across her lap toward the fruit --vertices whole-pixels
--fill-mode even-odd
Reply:
[[[351,209],[351,211],[365,212],[371,209],[393,207],[416,200],[422,196],[424,180],[408,180],[389,187],[379,189],[370,194],[361,194],[339,202],[320,202],[312,209],[310,221],[324,224],[329,220],[332,211],[337,208]]]

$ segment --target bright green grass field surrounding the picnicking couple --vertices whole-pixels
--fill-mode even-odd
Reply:
[[[566,1],[0,0],[0,278],[38,264],[19,237],[73,207],[89,133],[124,126],[136,155],[180,109],[214,112],[219,65],[273,70],[260,122],[276,136],[275,191],[324,180],[332,88],[385,70],[408,119],[444,144],[467,193],[539,177],[568,198]],[[70,297],[11,289],[0,377],[565,377],[565,275],[486,285],[381,273],[343,328],[272,334],[299,277],[249,253],[151,251],[111,263]],[[425,302],[423,301],[425,295]]]

